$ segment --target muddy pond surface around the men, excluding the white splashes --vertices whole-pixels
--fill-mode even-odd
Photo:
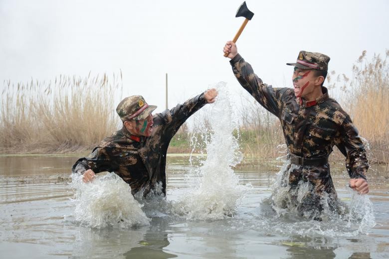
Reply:
[[[370,170],[367,197],[374,213],[370,222],[276,216],[267,198],[279,162],[236,168],[238,184],[246,192],[234,215],[201,220],[175,213],[174,208],[177,201],[198,189],[201,175],[193,170],[197,165],[190,165],[188,157],[170,156],[168,198],[155,203],[139,201],[149,223],[90,227],[76,220],[76,190],[69,184],[70,168],[77,158],[0,157],[0,258],[389,257],[386,168]],[[338,196],[349,207],[358,201],[369,206],[348,190],[342,166],[333,166],[332,175]],[[373,226],[361,229],[361,224]]]

